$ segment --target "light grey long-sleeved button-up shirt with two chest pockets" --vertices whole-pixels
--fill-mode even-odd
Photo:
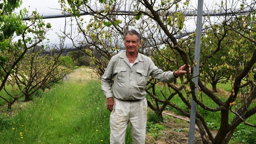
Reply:
[[[138,53],[138,52],[137,52]],[[134,65],[130,68],[126,51],[113,56],[101,78],[101,88],[106,98],[112,97],[110,80],[114,77],[113,96],[120,100],[140,100],[146,97],[148,77],[171,83],[175,79],[173,72],[163,72],[151,58],[138,53]]]

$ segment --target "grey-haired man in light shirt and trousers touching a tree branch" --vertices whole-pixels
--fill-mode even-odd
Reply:
[[[102,76],[102,90],[110,114],[110,143],[125,143],[128,122],[131,123],[133,144],[144,144],[146,135],[147,100],[144,90],[148,77],[171,83],[186,74],[185,65],[175,72],[163,72],[151,58],[138,53],[141,36],[135,30],[124,34],[126,51],[113,56]],[[113,94],[110,80],[114,78]]]

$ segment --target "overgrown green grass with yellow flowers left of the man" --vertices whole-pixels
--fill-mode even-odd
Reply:
[[[105,102],[97,80],[54,86],[19,112],[0,115],[0,143],[109,143]]]

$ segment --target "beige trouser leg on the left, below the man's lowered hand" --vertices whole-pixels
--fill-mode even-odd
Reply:
[[[115,105],[110,114],[110,144],[124,144],[129,122],[130,103],[114,98]]]

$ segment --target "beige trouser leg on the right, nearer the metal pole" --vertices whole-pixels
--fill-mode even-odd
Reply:
[[[132,102],[130,122],[132,129],[132,143],[144,144],[146,136],[147,122],[147,100],[146,98],[140,102]]]

